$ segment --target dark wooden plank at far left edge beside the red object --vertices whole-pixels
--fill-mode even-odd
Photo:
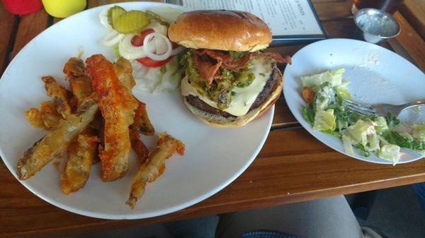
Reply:
[[[16,35],[16,26],[19,18],[6,11],[3,4],[0,4],[0,76],[9,61],[9,54]]]

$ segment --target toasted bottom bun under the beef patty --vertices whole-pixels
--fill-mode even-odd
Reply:
[[[205,112],[201,109],[198,109],[197,107],[193,107],[186,100],[186,97],[184,97],[184,103],[186,104],[186,107],[188,107],[188,109],[191,110],[191,112],[196,117],[198,117],[198,119],[200,119],[201,121],[205,122],[205,124],[208,124],[210,126],[222,127],[222,128],[234,128],[234,127],[244,126],[247,123],[249,123],[249,121],[252,121],[256,118],[261,117],[278,100],[280,93],[282,93],[282,85],[283,85],[283,76],[279,70],[277,71],[277,77],[278,77],[278,85],[276,85],[273,92],[270,95],[268,95],[267,100],[264,101],[263,104],[259,105],[259,107],[252,109],[250,112],[248,112],[247,114],[241,117],[226,118],[220,115],[210,114],[209,112]]]

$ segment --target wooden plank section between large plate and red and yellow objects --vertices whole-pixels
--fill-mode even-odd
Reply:
[[[22,16],[13,45],[12,58],[35,36],[47,28],[48,15],[44,9],[26,16]]]

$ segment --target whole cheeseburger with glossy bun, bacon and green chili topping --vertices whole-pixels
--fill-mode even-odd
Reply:
[[[191,11],[168,34],[189,48],[181,59],[181,93],[206,124],[243,126],[278,99],[283,79],[276,64],[290,64],[290,57],[261,52],[272,39],[260,18],[243,11]]]

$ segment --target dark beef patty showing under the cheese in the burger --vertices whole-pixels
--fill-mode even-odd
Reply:
[[[267,100],[268,95],[270,95],[273,92],[273,90],[276,88],[276,86],[278,85],[278,68],[276,67],[276,64],[273,65],[272,67],[273,67],[273,70],[271,72],[270,78],[268,78],[266,85],[264,85],[263,90],[256,97],[256,100],[251,105],[248,112],[250,112],[252,109],[254,109],[256,107],[259,107],[259,105],[263,104],[263,102],[265,102]],[[188,95],[188,96],[186,96],[186,100],[193,107],[201,109],[205,112],[209,112],[210,114],[220,115],[220,116],[226,117],[226,118],[227,117],[235,117],[234,115],[229,114],[228,112],[222,111],[222,110],[217,109],[215,107],[211,107],[210,105],[208,105],[203,100],[200,100],[200,98],[197,97],[197,96]]]

